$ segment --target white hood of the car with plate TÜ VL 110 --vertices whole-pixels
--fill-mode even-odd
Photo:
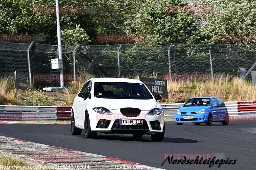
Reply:
[[[141,100],[141,99],[104,99],[94,98],[98,106],[105,107],[110,110],[120,110],[124,107],[139,108],[140,110],[152,110],[156,108],[157,102],[153,99]]]

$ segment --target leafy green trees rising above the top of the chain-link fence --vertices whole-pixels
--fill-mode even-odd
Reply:
[[[164,13],[164,6],[212,6],[211,13]],[[57,44],[56,15],[34,13],[47,0],[0,2],[1,34],[42,34]],[[91,43],[97,34],[146,35],[137,44],[211,43],[214,34],[256,34],[256,1],[227,0],[60,0],[59,6],[83,6],[91,11],[60,14],[63,44]],[[108,44],[112,44],[108,42]]]

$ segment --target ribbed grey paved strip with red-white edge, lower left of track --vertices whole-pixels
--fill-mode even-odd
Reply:
[[[153,169],[131,161],[0,136],[0,153],[45,169]],[[11,165],[12,168],[12,165]],[[38,169],[40,169],[38,168]],[[25,168],[24,168],[25,169]]]

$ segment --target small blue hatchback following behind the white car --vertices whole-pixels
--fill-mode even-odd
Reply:
[[[221,122],[228,125],[228,110],[224,102],[216,97],[194,97],[189,99],[176,111],[175,122],[177,125],[183,123],[195,123],[200,125],[212,122]]]

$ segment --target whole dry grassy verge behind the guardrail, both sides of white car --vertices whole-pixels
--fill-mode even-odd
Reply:
[[[43,92],[32,88],[28,91],[28,104],[70,106],[84,83],[94,77],[93,75],[85,74],[82,81],[76,82],[76,89],[74,89],[74,82],[69,82],[67,90],[63,92]],[[148,77],[156,78],[157,73],[152,73]],[[137,79],[138,77],[128,76],[127,78]],[[253,86],[250,81],[237,77],[232,78],[229,75],[220,75],[215,78],[214,83],[211,81],[198,82],[189,80],[167,81],[167,85],[168,103],[185,102],[191,97],[199,96],[215,96],[224,101],[256,100],[256,86]],[[19,105],[25,105],[25,92],[18,90],[18,96]],[[165,103],[165,99],[160,100],[160,102]],[[16,105],[13,76],[0,77],[0,104]]]

